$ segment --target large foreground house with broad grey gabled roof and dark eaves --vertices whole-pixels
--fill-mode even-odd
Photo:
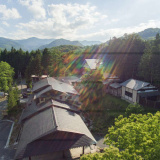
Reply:
[[[17,160],[70,158],[91,153],[96,140],[74,107],[49,100],[30,104],[21,116],[22,129],[15,154]]]

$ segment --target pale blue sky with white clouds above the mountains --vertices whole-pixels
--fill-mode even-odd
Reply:
[[[0,37],[105,42],[160,28],[159,0],[0,0]]]

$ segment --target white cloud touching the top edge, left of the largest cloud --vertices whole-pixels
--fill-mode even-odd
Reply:
[[[36,19],[46,17],[46,11],[43,7],[43,0],[19,0],[19,2],[26,6]]]

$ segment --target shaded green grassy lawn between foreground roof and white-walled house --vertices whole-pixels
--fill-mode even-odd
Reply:
[[[128,102],[120,98],[106,94],[93,103],[84,105],[82,108],[84,116],[93,123],[91,131],[105,135],[108,127],[114,124],[114,119],[119,115],[125,114],[128,104]]]

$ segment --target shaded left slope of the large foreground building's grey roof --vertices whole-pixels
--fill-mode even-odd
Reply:
[[[46,109],[45,111],[28,119],[23,125],[16,156],[25,150],[27,144],[55,128],[56,123],[54,121],[52,108]]]

